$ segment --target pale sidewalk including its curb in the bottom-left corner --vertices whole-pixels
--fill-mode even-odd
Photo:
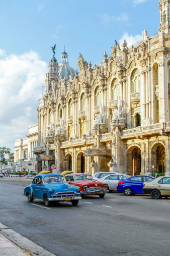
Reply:
[[[0,223],[0,255],[2,256],[55,256],[50,251]]]

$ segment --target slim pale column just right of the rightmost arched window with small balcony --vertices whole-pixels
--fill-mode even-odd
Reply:
[[[141,120],[146,119],[146,71],[142,71],[142,86],[141,86]]]

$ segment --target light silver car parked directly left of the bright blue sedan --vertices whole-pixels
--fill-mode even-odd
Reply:
[[[100,179],[102,182],[106,182],[108,184],[108,190],[109,191],[117,191],[117,185],[120,180],[124,180],[126,178],[130,177],[126,174],[110,174]]]

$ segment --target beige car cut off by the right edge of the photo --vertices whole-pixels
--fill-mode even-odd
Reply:
[[[143,183],[143,192],[150,194],[153,199],[159,199],[162,196],[170,196],[170,175],[160,176],[151,182]]]

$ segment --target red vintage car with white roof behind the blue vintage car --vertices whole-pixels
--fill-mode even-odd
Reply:
[[[80,187],[81,197],[83,195],[99,195],[103,198],[105,193],[109,192],[107,190],[107,183],[93,180],[93,177],[90,174],[70,173],[64,177],[69,184]]]

